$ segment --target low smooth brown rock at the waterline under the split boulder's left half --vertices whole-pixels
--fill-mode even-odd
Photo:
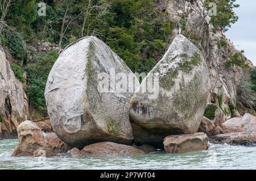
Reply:
[[[85,146],[81,154],[86,157],[134,157],[146,154],[141,149],[114,142],[98,142]]]

